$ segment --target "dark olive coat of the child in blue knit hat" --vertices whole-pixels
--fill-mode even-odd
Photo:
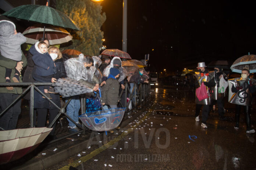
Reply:
[[[119,93],[119,82],[115,78],[108,78],[106,84],[102,89],[102,103],[108,105],[117,105],[118,93]]]

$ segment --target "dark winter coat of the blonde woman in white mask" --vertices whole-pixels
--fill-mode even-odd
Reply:
[[[55,60],[55,62],[56,62],[57,73],[54,74],[53,77],[56,77],[56,79],[62,78],[62,77],[67,77],[67,74],[66,74],[66,71],[64,68],[63,59],[57,59],[57,60]],[[39,80],[39,82],[51,82],[50,77],[38,76],[36,74],[34,74],[34,75],[35,75],[35,78],[37,80]],[[43,86],[38,86],[38,89],[41,92],[44,92]],[[60,107],[60,95],[58,93],[57,94],[50,93],[50,96],[53,98],[53,99],[51,99],[51,101],[53,101],[58,107]],[[42,97],[42,95],[39,92],[37,92],[36,90],[34,92],[34,108],[56,109],[56,107],[53,106],[53,104],[51,104],[50,101],[48,101],[47,99],[44,99]]]

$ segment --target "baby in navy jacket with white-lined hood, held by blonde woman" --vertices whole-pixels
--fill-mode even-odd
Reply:
[[[50,55],[47,51],[48,45],[43,41],[36,42],[36,44],[32,45],[29,49],[29,52],[33,55],[32,60],[35,63],[33,78],[39,82],[56,82],[56,78],[54,78],[54,74],[56,74],[56,64],[53,60],[57,57]],[[51,99],[48,89],[49,85],[45,85],[44,94]],[[51,93],[54,93],[54,91]],[[45,98],[44,96],[42,97]]]

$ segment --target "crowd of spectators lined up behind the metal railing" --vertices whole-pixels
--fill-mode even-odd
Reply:
[[[128,85],[148,83],[142,80],[143,69],[139,69],[127,80],[128,73],[122,67],[122,61],[119,57],[110,57],[100,59],[97,56],[84,56],[80,54],[78,58],[70,58],[64,61],[63,56],[58,47],[50,47],[49,40],[40,38],[29,51],[26,56],[21,51],[21,44],[26,38],[15,30],[15,25],[10,21],[0,21],[0,82],[45,82],[54,83],[58,79],[71,78],[79,81],[82,85],[89,87],[94,92],[101,90],[102,105],[104,109],[124,106],[121,102],[126,102],[124,97],[119,101],[121,89],[124,89],[124,83]],[[21,70],[26,67],[22,77]],[[60,94],[54,90],[53,86],[38,86],[43,93],[34,91],[34,125],[35,127],[45,127],[47,115],[49,124],[58,114],[58,108],[46,98],[51,99],[58,107],[61,107]],[[0,108],[4,110],[22,93],[20,86],[0,87]],[[72,93],[72,92],[71,92]],[[97,94],[97,93],[96,93]],[[87,99],[95,100],[98,95],[95,93],[86,93]],[[123,95],[124,96],[124,95]],[[27,93],[24,99],[31,100],[30,94]],[[70,119],[68,120],[68,128],[70,132],[78,132],[77,125],[81,125],[78,120],[80,110],[80,95],[71,95],[64,98],[67,104],[66,112]],[[87,101],[87,100],[86,100]],[[99,100],[97,100],[99,101]],[[29,101],[30,103],[30,101]],[[88,110],[90,106],[88,104]],[[94,108],[95,109],[95,108]],[[87,108],[86,108],[87,110]],[[19,99],[12,107],[10,107],[0,117],[0,127],[4,130],[12,130],[17,126],[19,114],[21,113],[21,99]],[[74,123],[75,122],[75,123]],[[55,125],[50,133],[54,137]]]

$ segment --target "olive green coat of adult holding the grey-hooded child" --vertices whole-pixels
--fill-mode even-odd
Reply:
[[[27,60],[25,55],[22,53],[21,61],[23,62],[23,67],[26,67]],[[4,56],[0,55],[0,82],[4,83],[6,82],[5,74],[6,74],[6,68],[12,69],[11,71],[11,77],[10,80],[13,82],[12,78],[15,74],[15,67],[17,66],[17,62],[8,58],[5,58]],[[22,76],[19,77],[19,82],[22,82]],[[21,94],[22,88],[21,87],[15,87],[13,86],[13,90],[7,90],[5,86],[0,86],[0,93],[13,93],[13,94]]]

